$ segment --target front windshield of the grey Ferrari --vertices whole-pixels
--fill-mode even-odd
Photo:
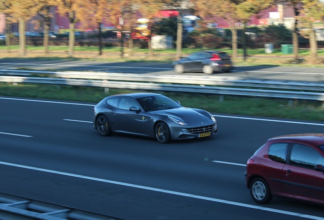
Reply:
[[[181,107],[177,102],[162,95],[147,96],[138,98],[137,100],[142,105],[145,112]]]

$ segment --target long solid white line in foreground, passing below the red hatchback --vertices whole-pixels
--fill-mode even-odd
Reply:
[[[194,198],[194,199],[224,203],[224,204],[240,206],[240,207],[245,207],[245,208],[258,209],[258,210],[262,210],[262,211],[269,211],[269,212],[281,213],[281,214],[286,214],[286,215],[298,216],[298,217],[303,217],[303,218],[324,219],[323,217],[314,216],[314,215],[307,215],[307,214],[302,214],[302,213],[284,211],[284,210],[280,210],[280,209],[266,208],[266,207],[262,207],[262,206],[249,205],[249,204],[245,204],[245,203],[232,202],[232,201],[228,201],[228,200],[221,200],[221,199],[215,199],[215,198],[204,197],[204,196],[197,196],[197,195],[193,195],[193,194],[180,193],[177,191],[171,191],[171,190],[166,190],[166,189],[153,188],[153,187],[148,187],[148,186],[118,182],[118,181],[113,181],[113,180],[100,179],[100,178],[65,173],[65,172],[60,172],[60,171],[53,171],[53,170],[47,170],[47,169],[42,169],[42,168],[29,167],[29,166],[24,166],[24,165],[15,164],[15,163],[8,163],[8,162],[0,161],[0,164],[12,166],[12,167],[29,169],[29,170],[41,171],[41,172],[46,172],[46,173],[70,176],[70,177],[75,177],[75,178],[93,180],[93,181],[98,181],[98,182],[105,182],[105,183],[111,183],[111,184],[116,184],[116,185],[128,186],[128,187],[133,187],[133,188],[146,189],[146,190],[150,190],[150,191],[157,191],[159,193],[172,194],[172,195],[189,197],[189,198]]]

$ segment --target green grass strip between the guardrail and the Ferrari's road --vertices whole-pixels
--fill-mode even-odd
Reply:
[[[1,96],[80,101],[94,104],[106,96],[125,92],[133,91],[110,89],[109,93],[106,93],[103,88],[38,84],[17,84],[14,86],[0,82]],[[202,108],[214,114],[324,121],[324,107],[321,102],[316,101],[295,100],[290,104],[289,100],[282,99],[170,92],[163,92],[163,94],[173,100],[179,100],[183,106]]]

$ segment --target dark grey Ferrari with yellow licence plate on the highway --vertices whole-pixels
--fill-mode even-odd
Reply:
[[[101,136],[119,132],[167,143],[217,133],[217,122],[210,113],[183,107],[156,93],[112,95],[95,105],[93,113],[93,127]]]

